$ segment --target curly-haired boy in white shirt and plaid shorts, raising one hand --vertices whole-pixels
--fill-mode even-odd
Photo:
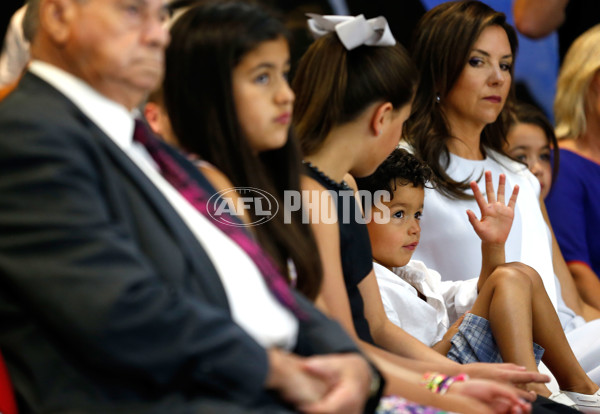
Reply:
[[[424,188],[431,177],[426,164],[396,149],[373,175],[357,179],[361,191],[383,190],[390,195],[387,201],[373,200],[365,206],[375,275],[388,318],[460,363],[506,361],[537,370],[543,358],[564,391],[551,395],[544,385],[528,387],[575,406],[569,397],[591,394],[597,386],[577,362],[537,272],[504,260],[518,187],[505,204],[503,175],[495,194],[491,173],[486,172],[487,201],[471,183],[481,219],[471,210],[467,215],[481,239],[481,273],[479,279],[442,282],[438,272],[411,260],[419,244]],[[474,291],[473,303],[469,298]],[[567,366],[569,370],[556,369]]]

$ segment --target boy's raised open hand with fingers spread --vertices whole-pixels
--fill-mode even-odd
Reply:
[[[481,211],[481,219],[478,219],[475,213],[467,210],[469,222],[473,226],[475,233],[481,241],[490,244],[504,244],[510,233],[512,222],[515,216],[515,204],[519,194],[519,186],[515,185],[508,204],[504,203],[506,176],[500,174],[498,182],[498,195],[494,194],[494,184],[492,183],[492,173],[485,172],[485,192],[487,201],[479,191],[479,186],[475,181],[471,181],[471,189],[475,196],[475,201]]]

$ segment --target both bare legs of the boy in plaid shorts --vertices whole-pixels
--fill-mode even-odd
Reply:
[[[481,289],[472,312],[490,321],[505,361],[537,370],[531,347],[535,341],[546,349],[542,359],[561,389],[582,394],[598,390],[577,362],[543,283],[529,266],[511,263],[496,269]],[[545,386],[531,385],[530,389],[540,395],[550,394]]]

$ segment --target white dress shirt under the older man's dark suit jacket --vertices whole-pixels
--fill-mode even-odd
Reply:
[[[33,61],[29,70],[70,99],[131,158],[170,202],[212,260],[225,288],[234,321],[264,347],[292,348],[298,335],[296,317],[273,296],[246,252],[162,177],[145,148],[133,141],[132,114],[81,79],[55,66]]]

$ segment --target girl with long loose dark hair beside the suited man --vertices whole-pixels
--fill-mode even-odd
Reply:
[[[198,3],[171,28],[163,91],[173,135],[233,205],[240,205],[241,189],[266,192],[278,205],[285,191],[300,189],[288,36],[264,7],[233,0]],[[234,187],[239,192],[227,191]],[[290,283],[300,275],[296,287],[315,299],[321,268],[302,213],[291,212],[285,223],[283,214],[264,220],[254,204],[247,207],[237,217]]]

